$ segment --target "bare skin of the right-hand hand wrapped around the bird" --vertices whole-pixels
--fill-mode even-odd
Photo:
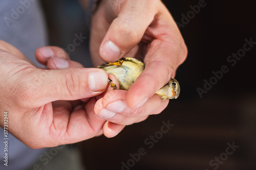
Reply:
[[[90,40],[95,66],[115,62],[122,57],[136,56],[145,56],[140,59],[146,64],[145,70],[129,91],[111,90],[102,95],[103,98],[94,106],[95,114],[108,120],[112,129],[120,130],[122,125],[138,123],[150,114],[162,112],[168,100],[161,100],[155,92],[167,84],[171,77],[174,78],[176,69],[186,58],[187,48],[175,21],[161,1],[102,0],[92,17]],[[120,53],[104,48],[107,41],[112,41]],[[80,66],[67,60],[69,66]],[[60,68],[62,62],[59,61]],[[49,68],[58,69],[56,63]],[[47,65],[54,65],[51,59]],[[114,116],[100,116],[103,110]],[[103,127],[102,130],[108,131],[109,128]]]

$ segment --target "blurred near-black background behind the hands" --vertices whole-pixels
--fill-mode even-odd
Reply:
[[[245,39],[256,42],[256,2],[208,0],[198,14],[190,12],[185,21],[184,15],[192,11],[190,6],[199,2],[163,1],[175,21],[183,24],[180,31],[188,47],[187,59],[177,70],[179,98],[171,100],[161,114],[127,126],[114,138],[101,136],[73,145],[79,148],[87,169],[256,169],[256,44],[236,64],[227,61],[232,53],[241,52]],[[51,45],[67,48],[75,34],[89,37],[77,1],[42,3]],[[88,42],[70,56],[92,66]],[[214,80],[212,71],[220,71],[223,65],[229,71],[201,98],[198,88],[204,88],[204,80]],[[145,140],[159,135],[162,122],[168,120],[174,127],[149,148],[152,145]],[[227,155],[227,143],[239,148]],[[132,161],[131,154],[136,155],[140,148],[146,154]],[[219,163],[217,157],[221,157]]]

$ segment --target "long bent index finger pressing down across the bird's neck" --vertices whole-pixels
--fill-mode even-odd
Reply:
[[[143,105],[170,78],[174,78],[176,69],[187,56],[185,42],[175,21],[164,6],[161,8],[158,19],[152,25],[157,29],[148,29],[157,39],[148,45],[145,69],[127,93],[127,106],[130,108]]]

